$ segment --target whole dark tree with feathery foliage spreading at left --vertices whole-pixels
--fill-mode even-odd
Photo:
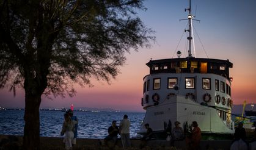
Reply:
[[[0,88],[24,88],[25,149],[39,149],[42,95],[73,96],[90,77],[109,82],[126,52],[155,40],[136,16],[142,1],[0,2]]]

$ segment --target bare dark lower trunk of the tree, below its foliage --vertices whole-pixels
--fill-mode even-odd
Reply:
[[[27,150],[40,149],[40,103],[41,95],[32,95],[30,92],[26,92],[23,148]]]

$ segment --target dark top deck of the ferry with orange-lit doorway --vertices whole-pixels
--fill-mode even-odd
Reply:
[[[229,76],[229,68],[233,63],[229,60],[203,59],[203,58],[176,58],[150,60],[146,64],[150,68],[150,74],[155,73],[213,73],[220,76]]]

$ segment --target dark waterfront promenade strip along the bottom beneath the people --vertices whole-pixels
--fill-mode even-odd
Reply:
[[[65,149],[64,143],[62,143],[63,138],[59,137],[41,137],[40,138],[40,149],[52,149],[60,150]],[[201,149],[230,149],[231,140],[202,140],[200,143]],[[93,138],[78,138],[76,141],[76,149],[109,149],[107,146],[103,145],[103,140],[93,139]],[[141,140],[132,139],[132,147],[128,149],[186,149],[185,141],[175,142],[175,148],[170,147],[170,142],[166,140],[152,140],[148,141],[147,146],[140,148]],[[21,149],[22,137],[13,135],[0,135],[0,149]],[[112,146],[111,144],[109,146]],[[123,149],[122,142],[119,139],[117,146],[111,149]]]

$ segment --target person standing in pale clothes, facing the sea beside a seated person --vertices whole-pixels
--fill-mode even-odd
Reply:
[[[119,130],[120,130],[123,148],[130,147],[131,146],[130,120],[128,120],[127,115],[123,115],[123,120],[119,124]]]

